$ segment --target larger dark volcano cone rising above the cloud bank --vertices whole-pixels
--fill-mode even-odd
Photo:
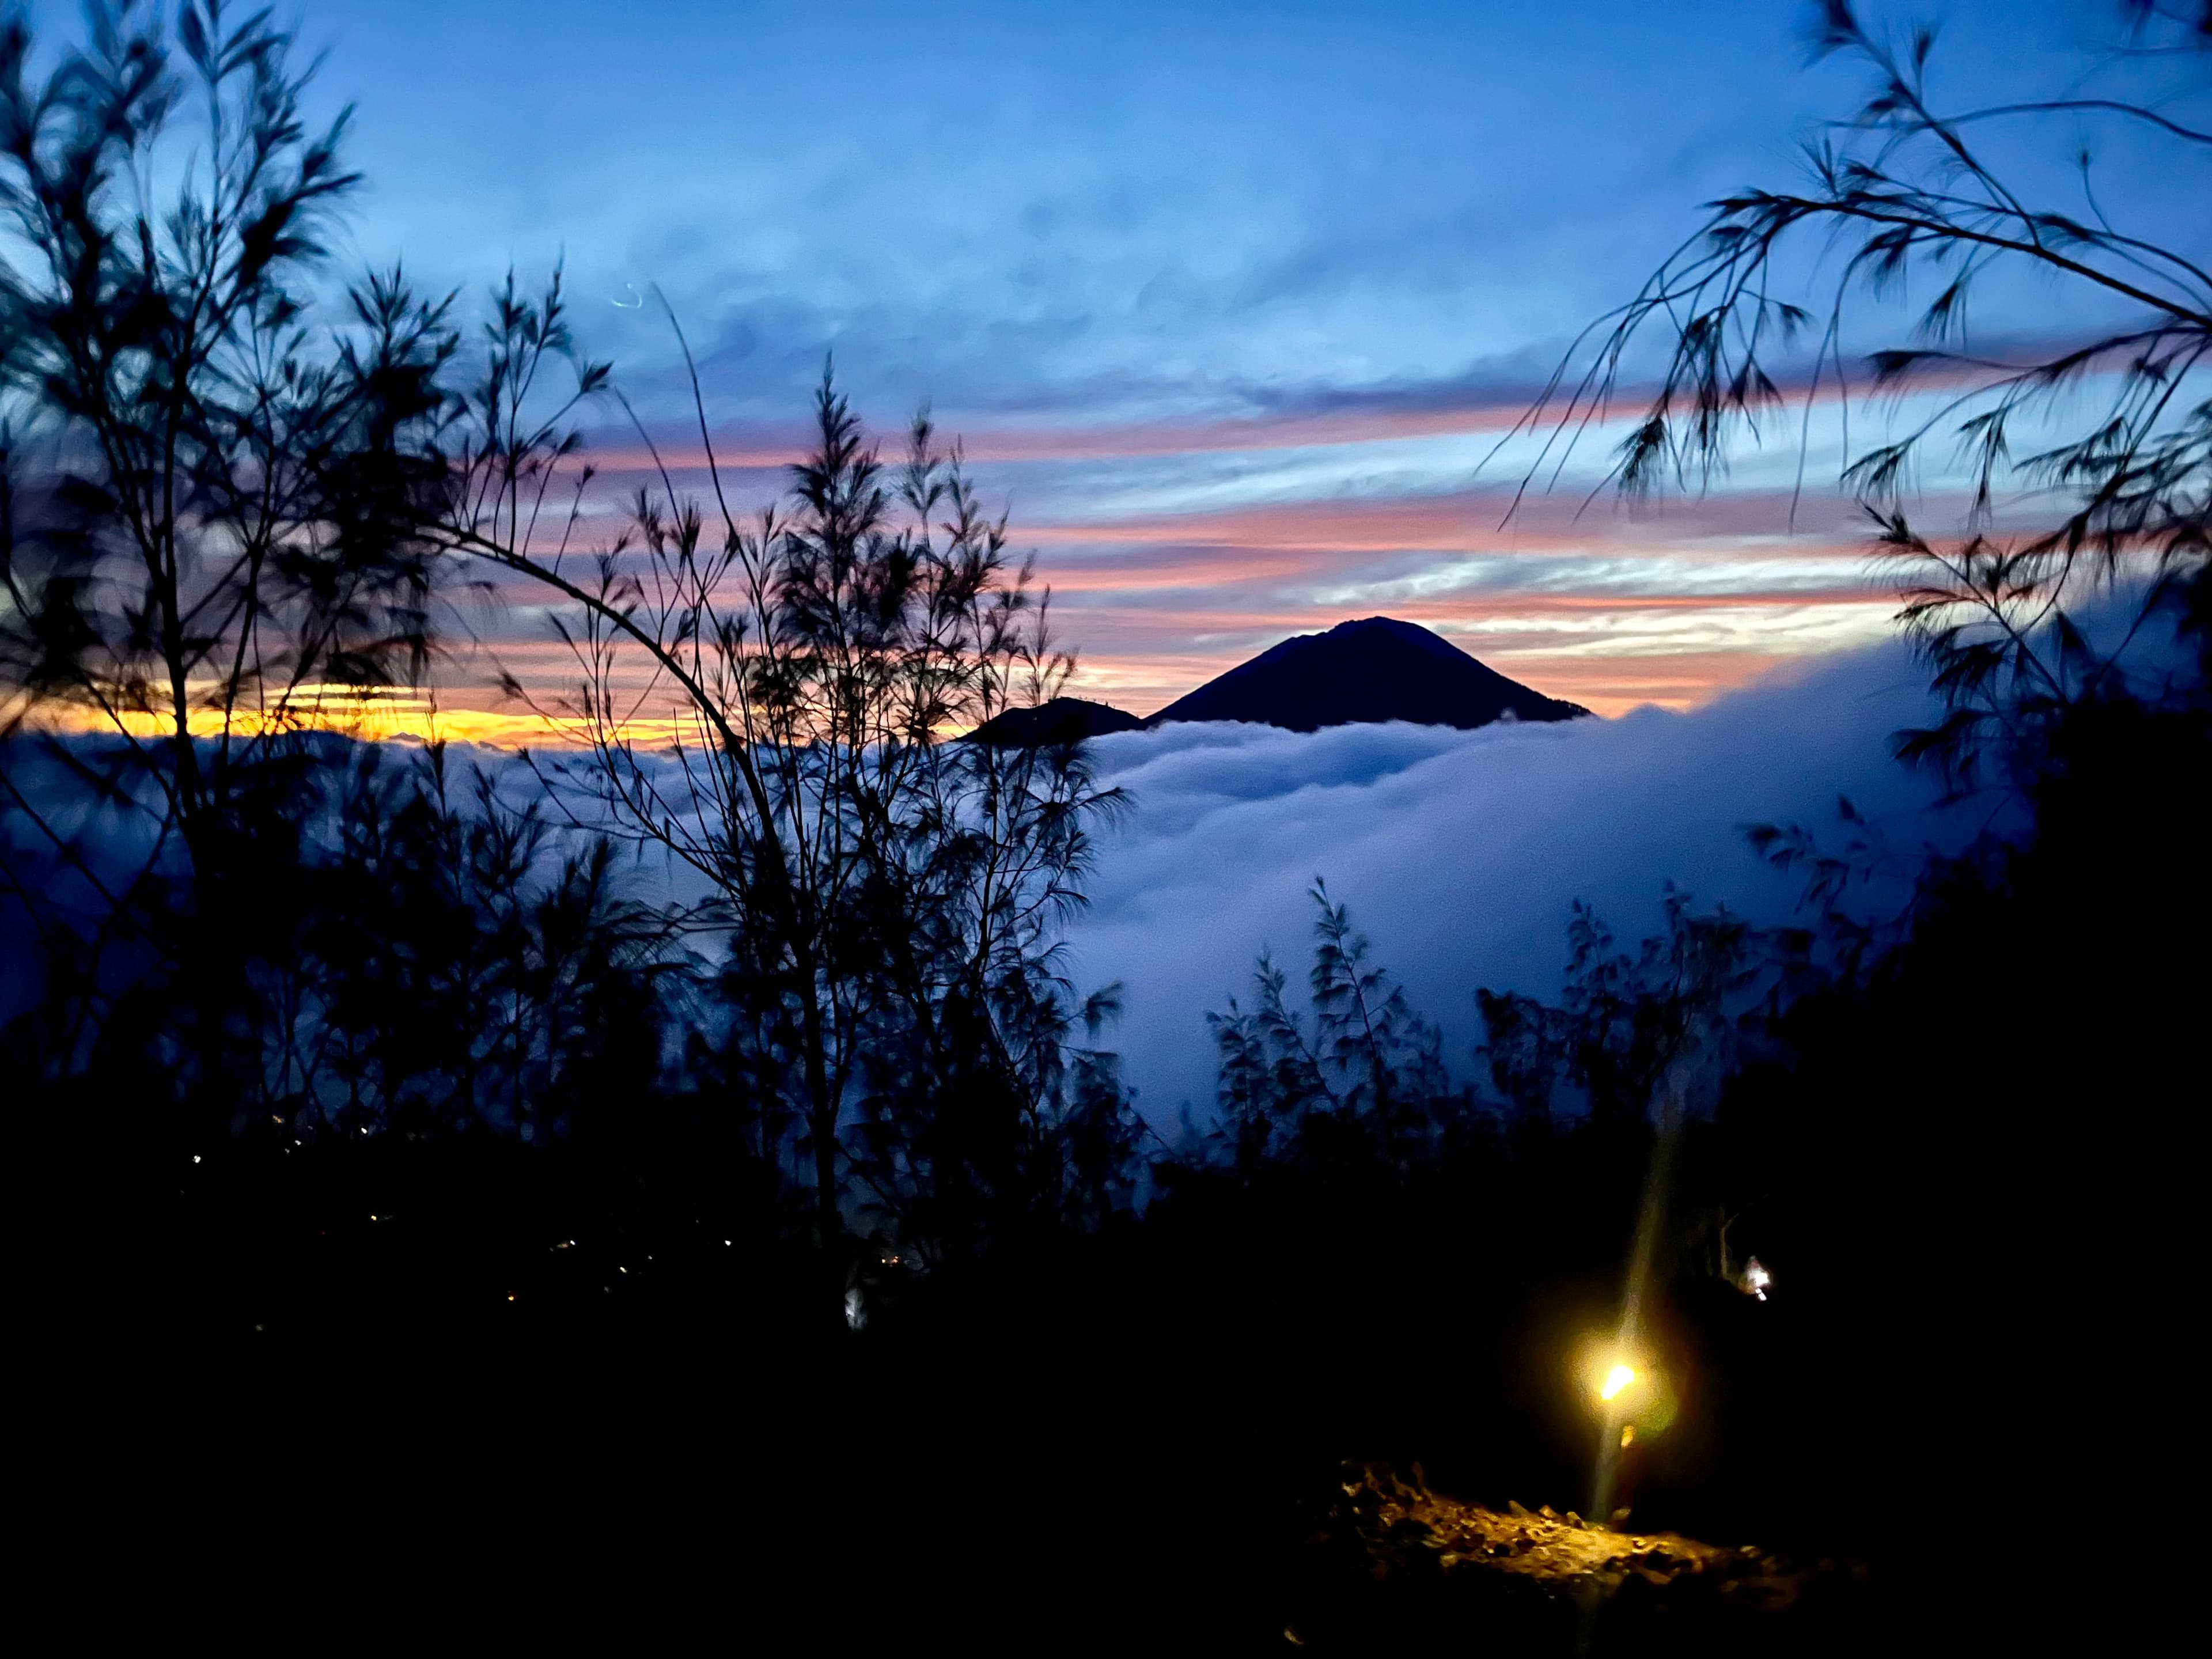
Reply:
[[[1146,723],[1252,721],[1318,732],[1323,726],[1411,721],[1467,730],[1506,717],[1568,721],[1588,712],[1484,668],[1418,624],[1365,617],[1285,639]]]

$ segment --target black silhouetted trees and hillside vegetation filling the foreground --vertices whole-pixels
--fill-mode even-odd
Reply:
[[[77,1407],[38,1420],[53,1513],[124,1599],[192,1557],[226,1617],[281,1577],[619,1586],[633,1637],[681,1599],[814,1648],[1858,1650],[2093,1590],[2048,1517],[2177,1495],[2212,407],[2146,387],[2205,349],[2201,279],[2044,458],[2057,531],[1876,502],[1949,708],[1902,748],[1982,814],[1964,852],[1845,805],[1752,836],[1803,927],[1577,914],[1555,1002],[1482,993],[1471,1084],[1316,887],[1307,1006],[1263,962],[1170,1144],[1055,953],[1124,803],[1079,743],[942,737],[1066,659],[927,427],[887,469],[825,385],[772,515],[648,500],[546,555],[606,385],[549,392],[557,290],[467,349],[396,274],[316,321],[336,148],[279,35],[181,15],[44,82],[0,44],[0,201],[44,259],[0,279],[9,1208],[22,1365]],[[1860,44],[1889,137],[1942,135]],[[212,170],[135,219],[186,108]],[[1756,380],[1710,345],[1677,392],[1725,425]],[[1672,418],[1632,482],[1694,462]],[[549,712],[584,759],[535,805],[319,730],[487,568],[575,646]],[[626,723],[653,699],[672,739]],[[646,902],[637,845],[706,898]],[[1431,1548],[1433,1493],[1590,1502],[1577,1365],[1624,1267],[1668,1400],[1619,1526],[1754,1544],[1816,1586],[1790,1606],[1668,1599],[1650,1551],[1599,1601]]]

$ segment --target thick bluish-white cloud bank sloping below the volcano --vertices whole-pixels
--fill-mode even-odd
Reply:
[[[1475,987],[1553,995],[1575,898],[1624,940],[1659,925],[1663,883],[1754,920],[1785,920],[1796,885],[1741,827],[1834,823],[1838,794],[1911,852],[1936,836],[1931,790],[1887,737],[1924,723],[1922,670],[1896,646],[1834,657],[1692,714],[1617,721],[1168,726],[1097,741],[1099,770],[1135,796],[1102,836],[1091,911],[1071,936],[1079,989],[1124,982],[1110,1044],[1137,1104],[1172,1133],[1206,1113],[1206,1011],[1245,998],[1270,945],[1303,989],[1314,876],[1352,905],[1376,960],[1444,1029],[1467,1075]]]

